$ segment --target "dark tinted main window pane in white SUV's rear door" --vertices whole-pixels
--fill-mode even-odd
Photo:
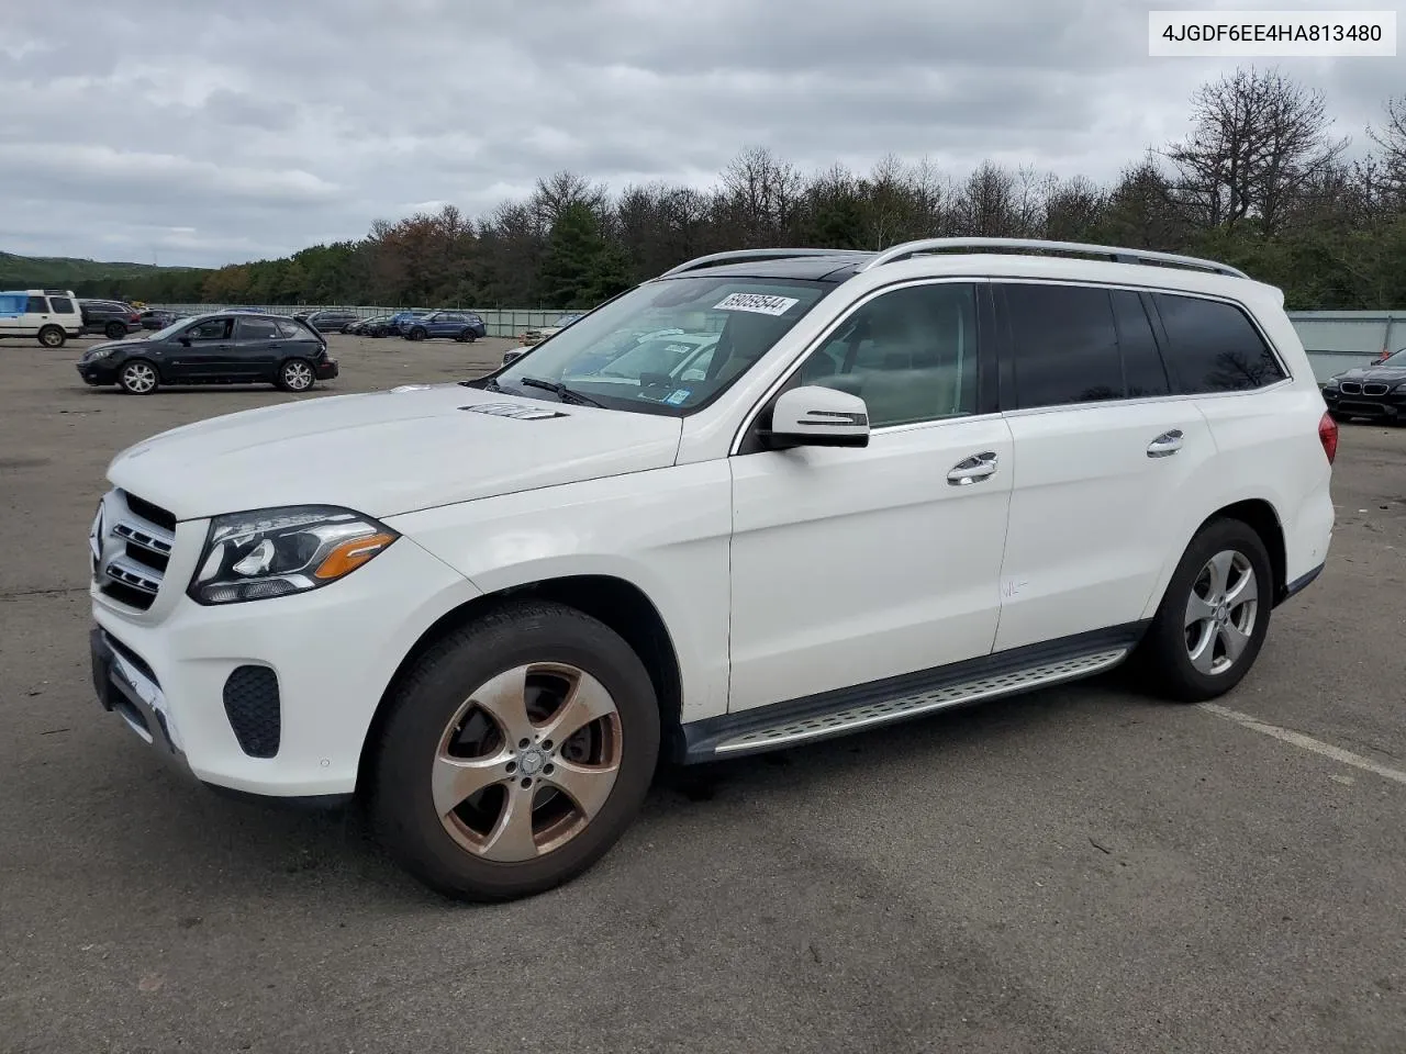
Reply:
[[[1004,288],[1018,408],[1125,396],[1108,289],[1036,284]]]

